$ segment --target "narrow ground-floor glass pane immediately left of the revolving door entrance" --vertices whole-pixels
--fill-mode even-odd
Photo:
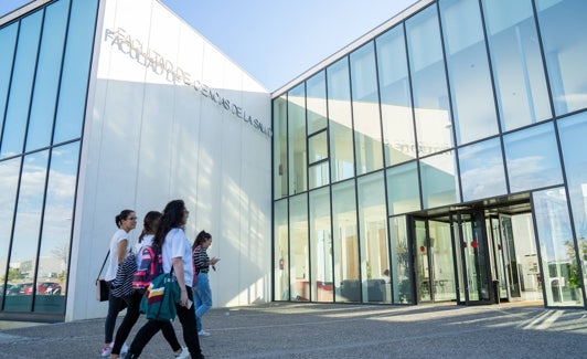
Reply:
[[[409,275],[409,247],[405,215],[389,218],[392,250],[392,286],[394,304],[414,304],[413,285]]]

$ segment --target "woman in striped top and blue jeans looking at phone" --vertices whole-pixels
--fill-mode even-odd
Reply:
[[[215,265],[220,261],[220,258],[210,258],[207,256],[206,251],[210,245],[212,245],[212,234],[207,233],[206,231],[198,233],[192,245],[193,265],[198,276],[193,288],[195,318],[198,321],[196,328],[198,335],[203,337],[210,336],[210,332],[204,330],[202,316],[207,312],[207,309],[212,308],[212,291],[210,289],[207,274],[210,272],[210,266],[212,266],[212,268],[215,271]]]

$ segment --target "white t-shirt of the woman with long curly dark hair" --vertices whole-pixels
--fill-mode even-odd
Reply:
[[[166,235],[166,242],[163,242],[163,271],[166,273],[171,272],[173,265],[173,258],[181,257],[183,260],[183,281],[186,286],[191,286],[193,283],[193,268],[192,268],[192,245],[185,233],[180,228],[174,228]]]

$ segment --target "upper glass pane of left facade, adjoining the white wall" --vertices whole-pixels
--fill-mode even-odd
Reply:
[[[97,0],[74,1],[67,28],[53,144],[82,136]]]

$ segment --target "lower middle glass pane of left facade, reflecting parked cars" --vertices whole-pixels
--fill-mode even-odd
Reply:
[[[4,310],[30,312],[34,293],[38,266],[38,247],[41,229],[41,214],[45,189],[49,151],[24,157],[19,188],[18,212],[9,258],[11,285],[21,288],[18,296],[7,297]],[[71,209],[70,212],[72,213]]]

